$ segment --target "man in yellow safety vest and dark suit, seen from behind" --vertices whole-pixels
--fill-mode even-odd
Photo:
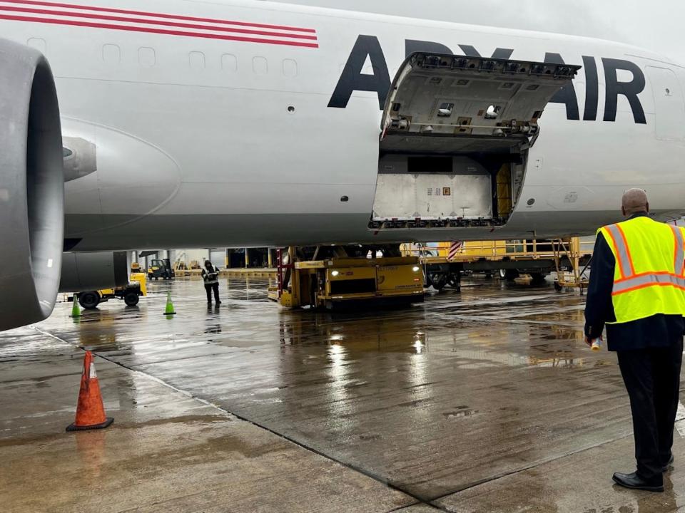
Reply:
[[[626,488],[664,491],[673,462],[685,333],[685,230],[649,217],[644,190],[623,196],[628,219],[597,232],[585,306],[585,341],[607,324],[630,398],[637,470]]]

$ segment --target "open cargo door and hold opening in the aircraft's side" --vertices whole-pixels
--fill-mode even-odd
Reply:
[[[385,103],[370,227],[505,224],[538,120],[579,69],[412,54]]]

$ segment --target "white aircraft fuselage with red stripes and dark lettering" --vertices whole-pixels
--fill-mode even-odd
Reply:
[[[262,1],[82,5],[93,4],[0,1],[2,36],[41,49],[51,63],[65,140],[97,147],[97,170],[66,183],[66,237],[75,250],[587,234],[618,219],[629,187],[645,188],[661,217],[685,212],[685,70],[653,53],[589,38]],[[239,21],[231,26],[243,32],[215,30],[211,20]],[[519,201],[503,227],[369,229],[379,93],[345,96],[340,81],[355,76],[345,70],[352,49],[371,47],[376,53],[362,75],[385,83],[389,73],[392,80],[414,44],[407,41],[454,53],[472,46],[482,56],[504,48],[528,61],[553,53],[581,66],[586,57],[597,66],[596,82],[587,66],[573,82],[579,119],[569,119],[573,102],[545,108]],[[628,96],[607,93],[612,59],[644,73],[637,95],[644,123]],[[616,73],[621,83],[635,78]],[[617,98],[615,120],[607,94]]]

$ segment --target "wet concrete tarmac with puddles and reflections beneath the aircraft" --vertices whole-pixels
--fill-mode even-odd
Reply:
[[[280,311],[263,280],[209,309],[199,281],[148,287],[0,333],[3,511],[685,511],[677,434],[666,492],[612,486],[634,470],[628,401],[578,294],[476,278],[326,314]],[[115,423],[73,434],[81,348]]]

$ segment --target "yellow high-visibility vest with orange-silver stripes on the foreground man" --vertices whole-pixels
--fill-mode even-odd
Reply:
[[[641,216],[597,233],[604,235],[616,259],[616,324],[656,314],[685,316],[684,229]]]

